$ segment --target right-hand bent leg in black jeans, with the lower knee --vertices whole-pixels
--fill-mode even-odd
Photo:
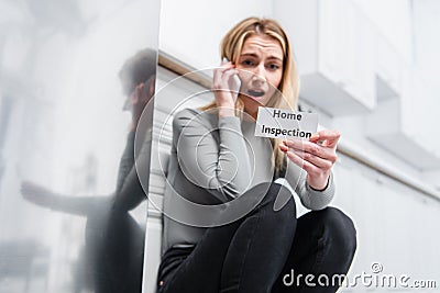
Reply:
[[[353,222],[340,210],[327,207],[302,215],[298,218],[290,253],[273,292],[336,292],[349,271],[355,250]],[[314,275],[308,279],[309,284],[305,281],[308,274]]]

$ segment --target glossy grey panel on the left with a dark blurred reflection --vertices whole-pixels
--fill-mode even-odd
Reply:
[[[0,292],[141,292],[158,10],[0,3]]]

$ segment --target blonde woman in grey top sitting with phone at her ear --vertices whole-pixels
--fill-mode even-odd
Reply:
[[[314,274],[315,282],[320,274],[331,280],[346,273],[353,259],[352,221],[327,207],[340,135],[321,131],[304,143],[254,136],[258,106],[296,109],[290,45],[275,21],[250,18],[237,24],[223,38],[221,57],[231,61],[215,70],[215,102],[174,119],[158,291],[336,292],[338,283],[311,286],[310,280],[290,279],[295,272]],[[234,75],[241,80],[237,101],[229,90]],[[277,178],[312,211],[296,218],[294,198]],[[258,201],[234,221],[220,213],[216,221],[227,224],[215,226],[179,205],[182,198],[204,205]],[[286,203],[274,209],[278,198]],[[204,224],[195,227],[197,221]]]

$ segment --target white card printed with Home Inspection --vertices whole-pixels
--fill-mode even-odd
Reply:
[[[255,136],[309,139],[317,128],[317,113],[260,106]]]

